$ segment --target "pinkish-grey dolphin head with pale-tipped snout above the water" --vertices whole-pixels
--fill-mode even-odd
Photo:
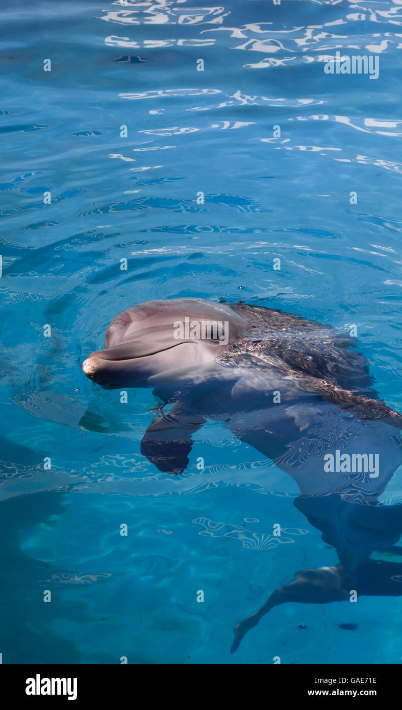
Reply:
[[[148,301],[121,312],[106,331],[105,348],[82,364],[106,388],[152,386],[211,364],[245,329],[229,306],[201,298]]]

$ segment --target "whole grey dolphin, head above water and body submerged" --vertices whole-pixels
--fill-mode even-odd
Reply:
[[[206,329],[204,339],[189,329],[177,339],[186,318],[196,333],[205,322],[224,325],[220,334]],[[152,387],[173,403],[141,442],[157,469],[182,473],[191,435],[206,420],[224,422],[292,476],[300,488],[296,508],[335,548],[339,564],[297,572],[235,626],[232,652],[264,614],[287,601],[350,600],[352,590],[402,594],[402,564],[371,559],[373,552],[402,555],[402,507],[378,500],[402,464],[402,416],[378,399],[355,347],[332,327],[280,310],[177,298],[123,311],[107,329],[105,349],[82,365],[103,387]]]

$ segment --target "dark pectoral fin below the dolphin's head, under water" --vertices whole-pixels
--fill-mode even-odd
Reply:
[[[141,454],[164,474],[181,474],[189,464],[193,434],[204,422],[199,415],[189,415],[173,408],[155,417],[141,442]]]

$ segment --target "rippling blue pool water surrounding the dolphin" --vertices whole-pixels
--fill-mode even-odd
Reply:
[[[125,307],[241,298],[356,324],[402,411],[400,2],[22,0],[0,21],[3,662],[400,662],[398,596],[279,606],[230,655],[335,550],[220,423],[157,471],[152,390],[122,405],[81,370]],[[378,79],[326,75],[336,50],[378,55]]]

